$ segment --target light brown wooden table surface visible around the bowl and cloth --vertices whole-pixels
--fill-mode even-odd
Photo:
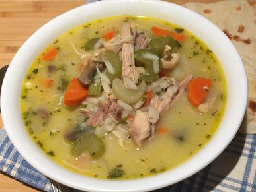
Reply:
[[[187,2],[211,3],[218,0],[168,0],[172,3]],[[83,5],[85,0],[0,0],[0,67],[11,59],[40,26],[52,18]],[[0,115],[0,129],[3,122]],[[1,191],[37,191],[23,185],[11,177],[0,174]]]

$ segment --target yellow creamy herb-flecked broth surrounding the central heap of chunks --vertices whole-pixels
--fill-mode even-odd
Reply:
[[[207,112],[200,112],[189,102],[186,87],[179,100],[160,114],[155,123],[155,133],[139,146],[129,133],[128,126],[132,126],[132,120],[124,118],[127,115],[122,112],[124,117],[117,120],[116,126],[127,129],[127,142],[117,137],[113,130],[109,131],[109,127],[105,129],[103,125],[98,125],[91,128],[103,142],[104,153],[94,158],[94,154],[88,154],[85,150],[79,156],[74,156],[71,148],[75,141],[69,141],[66,135],[87,123],[88,118],[82,118],[79,113],[81,108],[95,108],[94,112],[97,112],[99,103],[90,100],[88,104],[88,98],[96,97],[87,96],[79,105],[64,104],[67,85],[73,77],[81,74],[81,55],[75,53],[71,43],[82,53],[86,42],[95,37],[101,38],[108,30],[114,28],[116,36],[121,34],[124,22],[130,23],[132,29],[144,32],[151,40],[158,38],[151,31],[152,26],[185,36],[185,41],[179,47],[179,63],[167,70],[168,76],[174,77],[177,82],[187,75],[210,79],[212,86],[209,94],[214,94],[216,100]],[[47,61],[42,59],[53,47],[58,51],[56,57]],[[150,89],[150,84],[146,83],[146,89]],[[161,90],[160,94],[162,92],[165,90]],[[222,120],[226,95],[226,79],[220,63],[199,38],[186,29],[156,18],[115,16],[82,24],[65,32],[38,55],[24,79],[21,112],[24,125],[34,142],[64,168],[102,179],[134,179],[174,168],[204,147]]]

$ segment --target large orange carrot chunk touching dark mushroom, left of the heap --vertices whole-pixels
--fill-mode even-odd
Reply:
[[[77,78],[73,78],[69,85],[67,86],[67,90],[64,94],[64,104],[66,106],[74,106],[80,104],[85,100],[87,96],[87,88],[85,88]]]

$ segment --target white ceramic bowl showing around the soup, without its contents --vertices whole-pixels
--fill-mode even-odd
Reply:
[[[124,14],[161,18],[178,24],[201,38],[214,51],[224,69],[228,82],[226,112],[209,143],[177,168],[144,179],[93,179],[62,168],[33,143],[22,123],[21,85],[36,55],[60,34],[84,22]],[[17,150],[46,176],[85,191],[149,191],[177,183],[212,162],[232,141],[243,119],[246,102],[247,79],[241,58],[232,42],[212,22],[184,7],[164,1],[110,0],[77,7],[54,18],[23,44],[5,75],[1,111],[7,133]]]

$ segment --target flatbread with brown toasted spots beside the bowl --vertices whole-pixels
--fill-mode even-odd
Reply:
[[[245,65],[249,100],[247,112],[239,129],[241,133],[256,133],[256,3],[255,0],[227,0],[216,3],[183,5],[208,18],[232,40]]]

